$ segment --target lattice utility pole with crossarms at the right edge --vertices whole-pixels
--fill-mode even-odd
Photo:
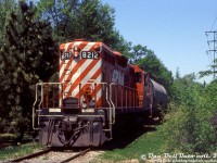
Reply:
[[[209,50],[206,51],[207,54],[212,53],[214,55],[214,61],[213,61],[213,73],[214,73],[214,79],[216,79],[216,68],[215,68],[215,63],[216,63],[216,53],[217,53],[217,30],[213,32],[205,32],[206,36],[208,37],[209,34],[213,35],[213,39],[208,38],[208,46],[213,43],[213,48],[209,47]]]

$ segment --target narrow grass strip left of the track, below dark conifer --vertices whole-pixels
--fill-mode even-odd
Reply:
[[[25,143],[20,146],[10,146],[0,149],[0,161],[23,156],[33,153],[39,149],[42,149],[42,146],[40,143]]]

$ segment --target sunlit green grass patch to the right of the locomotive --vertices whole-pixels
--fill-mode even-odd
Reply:
[[[164,125],[155,127],[156,130],[144,133],[125,148],[105,151],[100,155],[100,159],[114,162],[132,159],[141,161],[142,155],[149,155],[150,153],[161,155],[165,152],[166,146],[164,141]]]

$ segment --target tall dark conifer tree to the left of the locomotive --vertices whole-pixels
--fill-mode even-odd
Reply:
[[[35,84],[48,80],[58,70],[58,46],[50,24],[35,20],[35,12],[31,2],[27,5],[20,1],[20,12],[12,12],[7,26],[7,42],[0,55],[1,102],[11,128],[17,128],[21,137],[29,127]]]

